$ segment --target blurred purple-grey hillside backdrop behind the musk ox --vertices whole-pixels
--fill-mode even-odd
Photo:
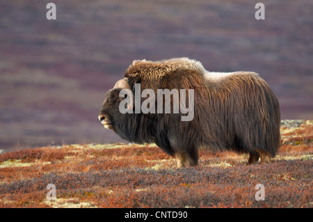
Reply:
[[[47,3],[56,20],[47,20]],[[282,119],[313,118],[313,2],[1,1],[0,149],[122,141],[97,120],[136,59],[259,72]]]

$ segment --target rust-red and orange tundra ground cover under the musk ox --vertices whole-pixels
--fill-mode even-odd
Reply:
[[[282,126],[271,164],[200,151],[177,168],[155,145],[87,144],[0,154],[0,207],[313,207],[313,126]],[[47,184],[56,200],[47,200]],[[264,184],[265,200],[255,200]]]

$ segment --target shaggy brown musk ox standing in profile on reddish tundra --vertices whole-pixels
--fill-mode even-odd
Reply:
[[[133,102],[138,84],[141,92],[151,89],[156,94],[158,89],[186,89],[187,94],[192,89],[194,97],[186,99],[186,104],[193,100],[192,120],[182,121],[185,114],[181,111],[132,112],[144,102],[143,97],[139,103]],[[131,93],[120,93],[122,90]],[[127,97],[132,97],[131,104],[127,103],[131,112],[121,113],[119,104]],[[161,101],[156,97],[150,100],[157,106]],[[170,97],[171,106],[174,102]],[[198,165],[199,148],[248,153],[248,164],[259,159],[259,163],[269,163],[280,146],[280,106],[259,74],[209,72],[199,61],[188,58],[134,61],[125,78],[106,94],[98,118],[127,141],[157,144],[177,159],[178,167]]]

